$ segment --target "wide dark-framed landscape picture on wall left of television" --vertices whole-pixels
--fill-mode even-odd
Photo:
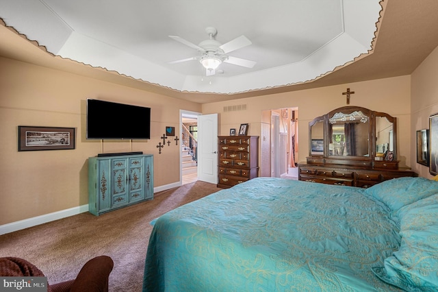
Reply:
[[[18,126],[18,151],[75,149],[74,127]]]

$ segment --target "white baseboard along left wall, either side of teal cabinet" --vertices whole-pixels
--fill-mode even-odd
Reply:
[[[153,192],[157,193],[160,191],[166,191],[170,188],[176,188],[177,186],[181,186],[181,184],[182,184],[181,182],[174,182],[172,184],[166,184],[164,186],[157,186],[156,188],[153,188]],[[49,213],[49,214],[45,214],[45,215],[40,215],[37,217],[32,217],[29,219],[24,219],[24,220],[12,222],[12,223],[4,224],[4,225],[0,225],[0,235],[14,232],[14,231],[18,231],[18,230],[22,230],[22,229],[33,227],[33,226],[37,226],[37,225],[40,225],[43,223],[48,223],[48,222],[55,221],[58,219],[70,217],[73,215],[78,215],[78,214],[81,214],[83,212],[88,212],[88,204],[82,205],[79,207],[69,208],[66,210],[60,210],[57,212],[53,212],[53,213]]]

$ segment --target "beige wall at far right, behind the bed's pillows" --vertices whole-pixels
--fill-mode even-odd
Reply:
[[[415,69],[411,75],[411,83],[412,168],[420,176],[432,178],[428,167],[417,163],[415,133],[417,130],[428,129],[429,116],[438,113],[438,47]]]

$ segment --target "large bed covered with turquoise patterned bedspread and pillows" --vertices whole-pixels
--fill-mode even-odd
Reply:
[[[143,291],[437,291],[438,182],[255,178],[153,222]]]

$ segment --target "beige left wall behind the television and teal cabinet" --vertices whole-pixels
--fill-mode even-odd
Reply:
[[[0,75],[0,225],[88,204],[87,158],[102,152],[153,154],[155,186],[179,182],[179,147],[156,145],[166,126],[179,132],[180,109],[199,104],[6,58]],[[151,107],[151,140],[86,140],[87,98]],[[18,125],[75,127],[76,149],[18,152]]]

